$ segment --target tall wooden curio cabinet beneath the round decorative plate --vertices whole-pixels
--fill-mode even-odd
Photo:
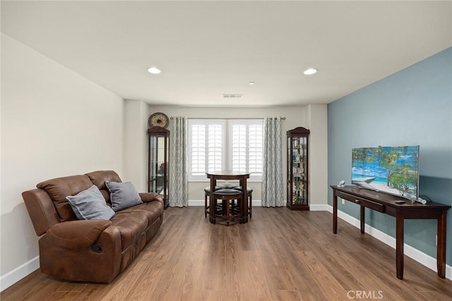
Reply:
[[[148,129],[148,192],[157,192],[168,208],[169,131],[160,126]]]

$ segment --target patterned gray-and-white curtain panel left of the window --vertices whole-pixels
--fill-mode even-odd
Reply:
[[[186,117],[172,117],[173,129],[169,150],[169,206],[189,206],[187,175],[187,121]]]

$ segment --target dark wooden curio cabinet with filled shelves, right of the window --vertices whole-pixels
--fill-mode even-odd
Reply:
[[[309,210],[308,150],[309,129],[287,131],[287,208]]]

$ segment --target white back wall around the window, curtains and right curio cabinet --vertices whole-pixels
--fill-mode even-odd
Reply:
[[[263,118],[263,117],[285,117],[282,123],[283,150],[285,150],[286,132],[295,129],[297,126],[304,126],[311,129],[310,147],[311,153],[316,154],[310,156],[311,170],[309,177],[311,178],[310,191],[313,197],[313,203],[326,204],[328,197],[327,185],[327,165],[326,165],[326,105],[314,105],[307,107],[170,107],[170,106],[153,106],[148,107],[148,114],[154,112],[163,112],[168,117],[186,116],[189,118]],[[172,130],[172,120],[169,120],[169,130]],[[322,149],[323,148],[323,149]],[[287,154],[283,151],[283,183],[286,183],[286,158]],[[189,203],[203,204],[204,191],[203,188],[208,186],[206,182],[190,182],[189,183]],[[249,182],[249,186],[254,189],[253,199],[261,200],[261,183]],[[321,191],[314,191],[321,189]],[[284,199],[287,199],[286,188]],[[201,202],[202,201],[202,202]]]

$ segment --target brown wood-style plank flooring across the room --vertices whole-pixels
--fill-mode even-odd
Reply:
[[[253,208],[246,224],[213,225],[203,207],[168,208],[157,235],[112,283],[35,271],[6,300],[452,300],[452,281],[331,213]]]

